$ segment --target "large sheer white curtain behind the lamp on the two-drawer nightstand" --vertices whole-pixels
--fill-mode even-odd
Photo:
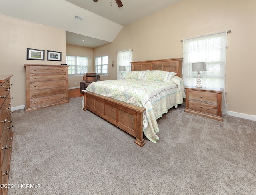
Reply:
[[[185,85],[195,86],[197,72],[192,72],[192,63],[205,62],[207,71],[201,72],[201,85],[208,88],[223,88],[222,113],[227,113],[225,97],[227,31],[215,32],[183,40],[182,76]]]

